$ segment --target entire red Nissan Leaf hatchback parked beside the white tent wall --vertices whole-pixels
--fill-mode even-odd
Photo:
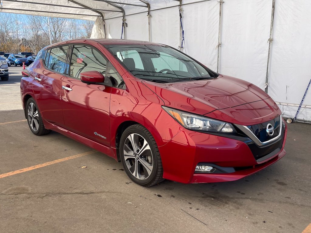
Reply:
[[[166,45],[56,43],[22,74],[32,133],[54,130],[107,154],[139,185],[238,180],[286,153],[269,95]]]

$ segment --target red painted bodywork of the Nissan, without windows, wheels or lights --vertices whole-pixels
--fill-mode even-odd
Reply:
[[[176,83],[146,81],[128,72],[104,45],[155,43],[81,39],[52,46],[72,43],[97,48],[122,76],[126,89],[87,85],[68,75],[48,70],[38,59],[28,68],[30,76],[21,80],[21,100],[25,108],[27,99],[35,99],[46,129],[57,131],[119,161],[120,130],[139,123],[156,140],[163,164],[163,178],[182,183],[238,180],[285,155],[284,120],[280,122],[278,142],[260,146],[247,135],[227,137],[188,130],[162,108],[171,107],[241,127],[280,117],[281,110],[276,103],[257,86],[225,75],[212,80]],[[62,89],[62,86],[72,91]],[[105,138],[97,137],[93,132],[105,135]],[[255,158],[256,153],[261,154],[261,159]],[[195,173],[198,163],[234,170],[229,173]]]

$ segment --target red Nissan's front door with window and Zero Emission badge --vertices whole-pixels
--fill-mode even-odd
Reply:
[[[80,80],[85,71],[105,76],[107,59],[88,44],[72,46],[69,75],[62,79],[61,98],[65,127],[88,139],[110,145],[109,102],[112,88],[87,85]]]

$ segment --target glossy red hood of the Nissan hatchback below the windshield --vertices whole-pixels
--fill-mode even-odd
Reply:
[[[216,79],[190,82],[155,83],[144,80],[143,83],[164,101],[165,106],[200,115],[270,98],[257,86],[226,75],[219,75]],[[265,103],[270,109],[269,114],[275,112],[274,108],[268,106],[270,101]],[[260,104],[256,106],[262,107]],[[228,109],[228,111],[231,110]],[[241,114],[246,114],[246,112],[247,110],[243,110]],[[221,114],[224,113],[227,114],[226,111],[221,111]],[[252,119],[269,114],[262,111],[258,113],[258,116],[252,116]]]

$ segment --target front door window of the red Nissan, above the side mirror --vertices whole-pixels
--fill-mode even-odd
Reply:
[[[75,45],[70,62],[70,76],[79,78],[82,72],[99,71],[105,75],[107,61],[99,51],[85,45]]]

